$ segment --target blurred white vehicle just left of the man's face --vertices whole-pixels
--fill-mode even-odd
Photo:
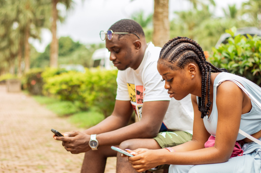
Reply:
[[[90,64],[91,67],[100,67],[106,70],[116,69],[110,61],[110,52],[106,48],[95,50]]]

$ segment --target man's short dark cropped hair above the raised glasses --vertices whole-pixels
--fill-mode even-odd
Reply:
[[[111,25],[109,30],[112,30],[113,32],[130,32],[130,33],[134,32],[135,34],[137,34],[139,36],[143,36],[143,37],[145,36],[144,31],[143,31],[142,27],[140,26],[140,24],[138,24],[136,21],[130,20],[130,19],[119,20],[115,24]],[[118,39],[124,35],[125,34],[119,34]]]

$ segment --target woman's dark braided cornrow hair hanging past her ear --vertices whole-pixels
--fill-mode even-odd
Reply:
[[[163,61],[165,60],[165,61]],[[171,64],[164,62],[170,62]],[[169,40],[160,52],[158,63],[164,64],[172,70],[185,68],[188,63],[197,63],[201,71],[201,97],[198,97],[198,110],[201,112],[201,118],[209,115],[210,105],[210,77],[211,72],[227,72],[225,68],[217,68],[206,61],[204,52],[200,45],[187,37],[175,37]],[[208,80],[208,102],[205,104]]]

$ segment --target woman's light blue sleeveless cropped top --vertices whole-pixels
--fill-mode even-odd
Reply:
[[[216,136],[216,126],[217,126],[217,107],[216,107],[216,89],[217,87],[224,81],[234,79],[237,82],[241,83],[245,89],[247,89],[250,94],[252,94],[258,101],[261,103],[261,88],[256,85],[255,83],[251,82],[250,80],[231,74],[222,72],[216,76],[216,79],[214,80],[214,96],[213,96],[213,108],[212,112],[208,118],[208,116],[205,116],[203,118],[205,127],[208,131],[208,133]],[[226,98],[224,98],[226,99]],[[254,134],[261,130],[261,109],[257,107],[257,105],[251,101],[252,109],[250,112],[241,115],[241,121],[240,121],[240,129],[247,134]],[[229,116],[229,115],[227,115]],[[231,122],[233,123],[233,122]],[[237,141],[242,140],[245,137],[241,134],[238,134]]]

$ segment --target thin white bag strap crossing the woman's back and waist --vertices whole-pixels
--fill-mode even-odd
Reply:
[[[247,96],[261,109],[261,103],[260,103],[259,101],[257,101],[257,100],[255,99],[255,97],[252,96],[252,94],[250,94],[250,93],[247,91],[247,89],[245,89],[245,88],[242,86],[241,83],[239,83],[238,81],[233,80],[233,79],[228,79],[228,80],[230,80],[230,81],[236,83],[236,85],[237,85],[238,87],[240,87],[241,90],[243,90],[243,91],[247,94]],[[222,82],[224,82],[224,81],[222,81]],[[221,83],[221,82],[219,82],[219,84],[220,84],[220,83]],[[254,138],[253,136],[247,134],[246,132],[242,131],[241,129],[239,129],[239,133],[242,134],[243,136],[247,137],[248,139],[251,139],[252,141],[256,142],[257,144],[261,145],[261,141],[259,141],[258,139]]]

